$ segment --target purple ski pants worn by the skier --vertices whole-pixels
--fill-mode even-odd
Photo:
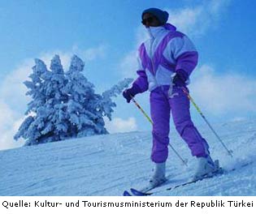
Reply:
[[[170,131],[170,113],[176,130],[188,144],[193,156],[206,156],[209,146],[191,121],[189,99],[181,88],[173,88],[172,98],[168,97],[168,88],[156,88],[150,93],[150,112],[153,120],[153,148],[151,160],[163,163],[168,157]]]

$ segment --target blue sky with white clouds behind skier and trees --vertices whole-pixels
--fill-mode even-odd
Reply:
[[[20,146],[12,139],[29,98],[25,79],[33,58],[50,62],[59,54],[68,67],[72,54],[85,61],[85,76],[97,92],[124,77],[136,78],[137,46],[145,39],[141,11],[159,7],[169,22],[196,45],[200,60],[191,76],[191,95],[210,122],[256,118],[254,1],[86,0],[7,1],[0,4],[0,149]],[[149,93],[137,101],[149,113]],[[119,96],[111,132],[150,131],[150,124]],[[196,125],[203,124],[193,106]],[[173,127],[172,127],[173,128]]]

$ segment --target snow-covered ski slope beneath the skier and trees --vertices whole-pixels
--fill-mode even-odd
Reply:
[[[189,166],[169,151],[170,182],[157,195],[256,195],[256,120],[214,125],[231,158],[207,126],[199,127],[223,169],[236,171],[165,191],[189,179],[195,159],[171,131],[171,143]],[[150,132],[100,135],[0,152],[0,195],[122,195],[150,178]],[[246,167],[241,165],[252,162]]]

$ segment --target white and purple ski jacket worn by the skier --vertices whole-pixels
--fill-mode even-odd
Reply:
[[[182,70],[189,77],[197,66],[197,50],[192,41],[176,27],[165,24],[147,28],[150,39],[141,44],[138,51],[139,77],[134,81],[140,92],[163,85],[171,85],[171,75]]]

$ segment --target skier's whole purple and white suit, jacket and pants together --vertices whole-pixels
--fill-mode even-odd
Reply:
[[[137,93],[150,91],[150,113],[153,125],[151,160],[163,163],[168,156],[170,113],[176,130],[188,144],[193,156],[206,156],[209,146],[193,125],[189,99],[182,88],[172,85],[171,75],[182,71],[187,77],[197,66],[197,50],[193,43],[171,24],[148,28],[150,39],[139,48],[137,74],[132,88]],[[188,88],[184,87],[189,91]]]

